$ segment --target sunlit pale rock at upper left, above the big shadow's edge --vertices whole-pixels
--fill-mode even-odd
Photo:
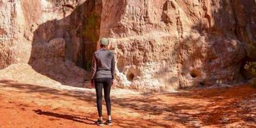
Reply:
[[[84,1],[84,0],[83,0]],[[83,1],[66,1],[80,5]],[[38,31],[45,22],[63,19],[73,11],[57,0],[1,0],[0,1],[0,69],[12,63],[28,63],[33,55],[32,44],[49,42],[55,38],[55,25]],[[44,40],[38,40],[38,36]]]

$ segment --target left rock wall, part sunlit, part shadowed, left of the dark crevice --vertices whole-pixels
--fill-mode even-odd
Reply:
[[[38,73],[61,84],[83,86],[87,74],[76,67],[79,45],[83,43],[76,30],[82,28],[83,16],[70,16],[72,7],[83,2],[0,1],[0,69],[29,63]]]

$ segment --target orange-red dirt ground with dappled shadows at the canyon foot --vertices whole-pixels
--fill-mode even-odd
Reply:
[[[93,125],[97,119],[93,90],[0,80],[0,103],[4,128],[98,127]],[[112,103],[112,127],[256,127],[256,89],[249,85],[130,95],[114,90]]]

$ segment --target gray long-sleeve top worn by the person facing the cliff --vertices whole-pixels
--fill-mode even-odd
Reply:
[[[94,78],[112,78],[115,74],[115,57],[113,52],[104,48],[94,52],[91,65],[91,80]]]

